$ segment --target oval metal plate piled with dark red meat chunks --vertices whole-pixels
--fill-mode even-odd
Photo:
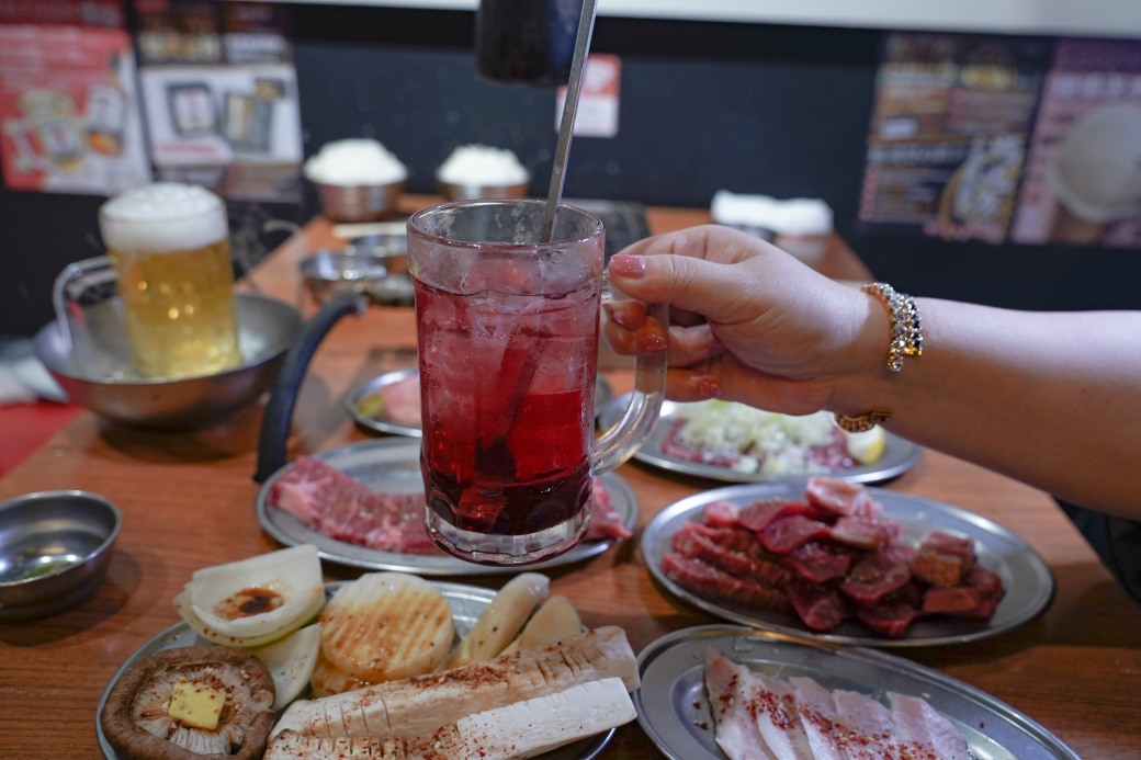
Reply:
[[[674,597],[754,628],[836,644],[960,644],[1027,623],[1050,567],[998,524],[830,477],[728,486],[646,526],[650,574]]]

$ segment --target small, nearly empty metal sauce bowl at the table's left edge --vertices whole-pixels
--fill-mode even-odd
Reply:
[[[0,620],[33,620],[83,601],[107,575],[119,508],[87,491],[0,502]]]

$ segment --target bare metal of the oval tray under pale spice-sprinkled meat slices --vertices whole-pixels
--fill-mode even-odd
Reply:
[[[1078,755],[1023,713],[979,689],[909,660],[861,647],[839,647],[736,625],[689,628],[657,639],[638,655],[638,723],[666,758],[723,760],[714,742],[704,687],[705,652],[780,679],[807,676],[822,686],[883,700],[888,692],[921,696],[966,738],[976,760]]]

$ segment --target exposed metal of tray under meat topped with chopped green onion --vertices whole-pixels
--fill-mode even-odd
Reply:
[[[629,395],[629,394],[628,394]],[[598,421],[602,428],[608,428],[622,415],[629,404],[628,395],[620,396],[599,414]],[[691,475],[707,480],[720,480],[722,483],[771,483],[786,480],[788,478],[802,478],[806,474],[790,476],[772,476],[763,472],[738,472],[728,467],[709,464],[706,462],[693,462],[686,459],[672,456],[663,451],[663,443],[673,425],[674,415],[679,404],[677,402],[665,402],[662,404],[662,412],[657,423],[650,431],[641,448],[634,454],[634,460],[652,464],[653,467]],[[849,483],[879,483],[898,477],[919,464],[923,458],[923,448],[899,436],[887,434],[883,455],[872,464],[857,464],[855,467],[828,474]]]

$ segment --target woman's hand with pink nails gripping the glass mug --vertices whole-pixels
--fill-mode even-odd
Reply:
[[[638,301],[670,305],[667,395],[675,401],[718,396],[807,414],[830,406],[835,380],[883,361],[887,316],[871,297],[728,227],[634,243],[612,258],[609,275]],[[661,340],[640,304],[607,312],[616,351]]]

